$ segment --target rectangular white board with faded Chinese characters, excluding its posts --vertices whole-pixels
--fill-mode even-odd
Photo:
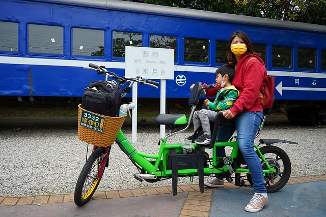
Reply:
[[[174,49],[126,46],[125,76],[174,79]]]

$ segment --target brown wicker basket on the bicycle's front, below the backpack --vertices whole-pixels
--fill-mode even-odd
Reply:
[[[121,117],[110,117],[97,114],[98,116],[105,117],[103,133],[94,131],[87,127],[80,125],[80,118],[82,117],[82,111],[87,111],[78,105],[78,138],[84,142],[92,145],[106,147],[114,143],[119,133],[119,130],[123,124],[124,119],[127,115]]]

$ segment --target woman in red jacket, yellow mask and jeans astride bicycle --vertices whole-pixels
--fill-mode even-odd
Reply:
[[[235,118],[237,141],[244,161],[250,170],[254,196],[244,208],[249,212],[258,212],[267,203],[267,191],[264,184],[261,162],[254,149],[254,139],[263,118],[263,108],[259,91],[264,95],[267,72],[263,60],[253,48],[246,33],[238,30],[229,39],[228,60],[235,66],[234,85],[240,93],[232,108],[225,110],[227,119]],[[208,89],[206,97],[213,96],[217,89]],[[221,128],[221,127],[220,127]],[[233,126],[219,128],[218,140],[228,141],[234,132]],[[216,156],[225,156],[225,150],[216,149]],[[211,187],[223,187],[224,181],[218,178],[204,182]]]

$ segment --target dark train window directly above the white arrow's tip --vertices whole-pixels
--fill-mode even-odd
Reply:
[[[292,68],[292,47],[273,45],[272,66]]]

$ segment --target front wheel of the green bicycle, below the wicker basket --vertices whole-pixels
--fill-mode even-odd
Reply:
[[[74,202],[77,206],[85,205],[95,193],[101,179],[98,177],[100,170],[105,170],[101,156],[103,148],[97,148],[85,163],[77,179]],[[102,168],[103,167],[103,168]]]

